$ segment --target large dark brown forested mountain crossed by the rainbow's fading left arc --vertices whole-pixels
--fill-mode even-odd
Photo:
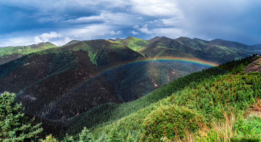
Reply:
[[[27,113],[58,121],[106,103],[136,100],[172,80],[206,69],[170,61],[147,59],[110,40],[81,41],[0,65],[0,92],[15,92]]]

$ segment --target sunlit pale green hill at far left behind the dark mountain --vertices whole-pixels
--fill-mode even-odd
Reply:
[[[2,47],[0,48],[0,64],[4,64],[12,60],[21,58],[22,56],[28,55],[30,53],[56,47],[59,46],[56,46],[50,42],[33,44],[28,46]]]

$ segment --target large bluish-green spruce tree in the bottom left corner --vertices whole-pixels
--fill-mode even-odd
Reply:
[[[22,104],[14,101],[15,94],[4,92],[0,97],[0,141],[3,142],[23,142],[40,141],[38,134],[43,131],[39,128],[41,124],[31,126],[31,120],[26,122]]]

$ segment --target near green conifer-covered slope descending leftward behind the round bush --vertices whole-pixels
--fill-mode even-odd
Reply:
[[[236,61],[236,65],[240,63],[241,61]],[[225,64],[232,68],[233,65],[235,64],[230,62]],[[252,104],[254,99],[261,95],[260,73],[227,73],[218,67],[209,68],[176,79],[138,100],[124,104],[101,105],[67,121],[68,128],[63,133],[74,135],[87,126],[93,136],[99,138],[103,132],[108,133],[114,127],[127,138],[129,131],[135,135],[143,131],[143,119],[152,110],[169,105],[193,109],[204,114],[204,117],[208,117],[207,112],[217,113],[217,117],[220,117],[220,108],[224,106],[236,107],[239,112],[240,109],[245,111],[247,104]],[[209,102],[213,103],[212,110],[208,107]]]

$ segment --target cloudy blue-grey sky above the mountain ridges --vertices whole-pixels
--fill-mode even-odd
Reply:
[[[189,37],[261,43],[260,0],[0,0],[0,47]]]

